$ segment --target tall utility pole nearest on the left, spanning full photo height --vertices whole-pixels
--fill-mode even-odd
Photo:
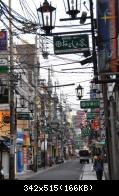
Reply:
[[[9,45],[10,45],[10,74],[9,74],[9,104],[10,104],[10,155],[9,179],[15,179],[15,108],[14,108],[14,65],[13,65],[13,34],[11,17],[11,0],[9,0]]]

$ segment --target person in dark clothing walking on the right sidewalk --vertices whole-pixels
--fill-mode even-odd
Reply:
[[[97,158],[95,159],[93,164],[93,168],[96,171],[97,180],[102,180],[104,166],[101,155],[97,155]]]

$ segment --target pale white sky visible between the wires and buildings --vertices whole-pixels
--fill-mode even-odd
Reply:
[[[8,4],[9,0],[3,0],[3,2]],[[36,8],[38,8],[40,6],[40,3],[42,4],[44,0],[11,0],[11,2],[12,2],[12,8],[16,12],[18,12],[20,15],[30,18],[28,12],[26,14],[25,10],[23,11],[23,9],[21,9],[20,3],[22,5],[22,8],[23,5],[26,6],[27,9],[29,10],[29,13],[31,12],[32,16],[34,13],[34,15],[37,17]],[[60,21],[61,18],[68,18],[68,15],[65,13],[63,0],[60,1],[52,0],[50,2],[52,2],[52,5],[56,7],[56,28],[53,30],[53,32],[69,32],[72,30],[75,31],[77,29],[78,31],[83,29],[90,29],[90,25],[80,26],[80,23],[77,20],[61,22]],[[81,5],[81,12],[87,11],[87,13],[89,14],[88,8],[89,8],[89,4],[87,0],[86,6],[84,6],[83,3]],[[80,17],[80,14],[78,16]],[[16,30],[14,29],[14,31]],[[29,43],[35,43],[35,39],[33,35],[31,34],[23,35],[20,32],[18,34],[19,37],[22,38],[23,40],[26,40]],[[93,69],[89,67],[92,67],[93,65],[92,64],[80,65],[79,61],[84,59],[81,53],[54,55],[53,37],[50,36],[44,38],[44,40],[47,43],[45,47],[47,48],[49,55],[48,55],[48,59],[44,59],[41,50],[38,50],[38,55],[39,55],[40,65],[41,65],[41,70],[40,70],[41,78],[47,80],[48,71],[46,69],[50,67],[52,70],[51,77],[53,79],[53,82],[56,82],[58,85],[74,83],[75,85],[72,86],[64,86],[64,87],[57,88],[57,92],[59,94],[63,94],[64,99],[66,99],[67,103],[71,106],[71,108],[74,111],[79,110],[80,101],[77,100],[75,89],[80,84],[84,88],[83,99],[89,98],[90,81],[91,79],[93,79]],[[14,42],[20,43],[21,41],[17,39],[16,36],[14,36]],[[41,43],[42,43],[42,37],[38,37],[38,45],[41,46]],[[90,41],[90,47],[91,47],[91,41]],[[86,67],[86,69],[82,69],[84,67]],[[74,69],[74,68],[80,68],[80,69]],[[71,69],[71,70],[64,70],[64,69]]]

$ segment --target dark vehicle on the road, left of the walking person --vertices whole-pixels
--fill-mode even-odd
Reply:
[[[80,163],[84,163],[84,162],[89,163],[90,152],[88,150],[80,150],[79,151],[79,161],[80,161]]]

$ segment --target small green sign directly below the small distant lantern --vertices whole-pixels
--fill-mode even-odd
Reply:
[[[99,108],[100,101],[99,100],[89,100],[89,101],[80,101],[81,108]]]

